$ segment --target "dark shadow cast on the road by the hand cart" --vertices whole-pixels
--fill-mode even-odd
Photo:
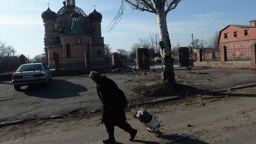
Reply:
[[[185,135],[184,133],[167,134],[161,133],[160,139],[169,140],[165,144],[209,144],[195,137]]]

